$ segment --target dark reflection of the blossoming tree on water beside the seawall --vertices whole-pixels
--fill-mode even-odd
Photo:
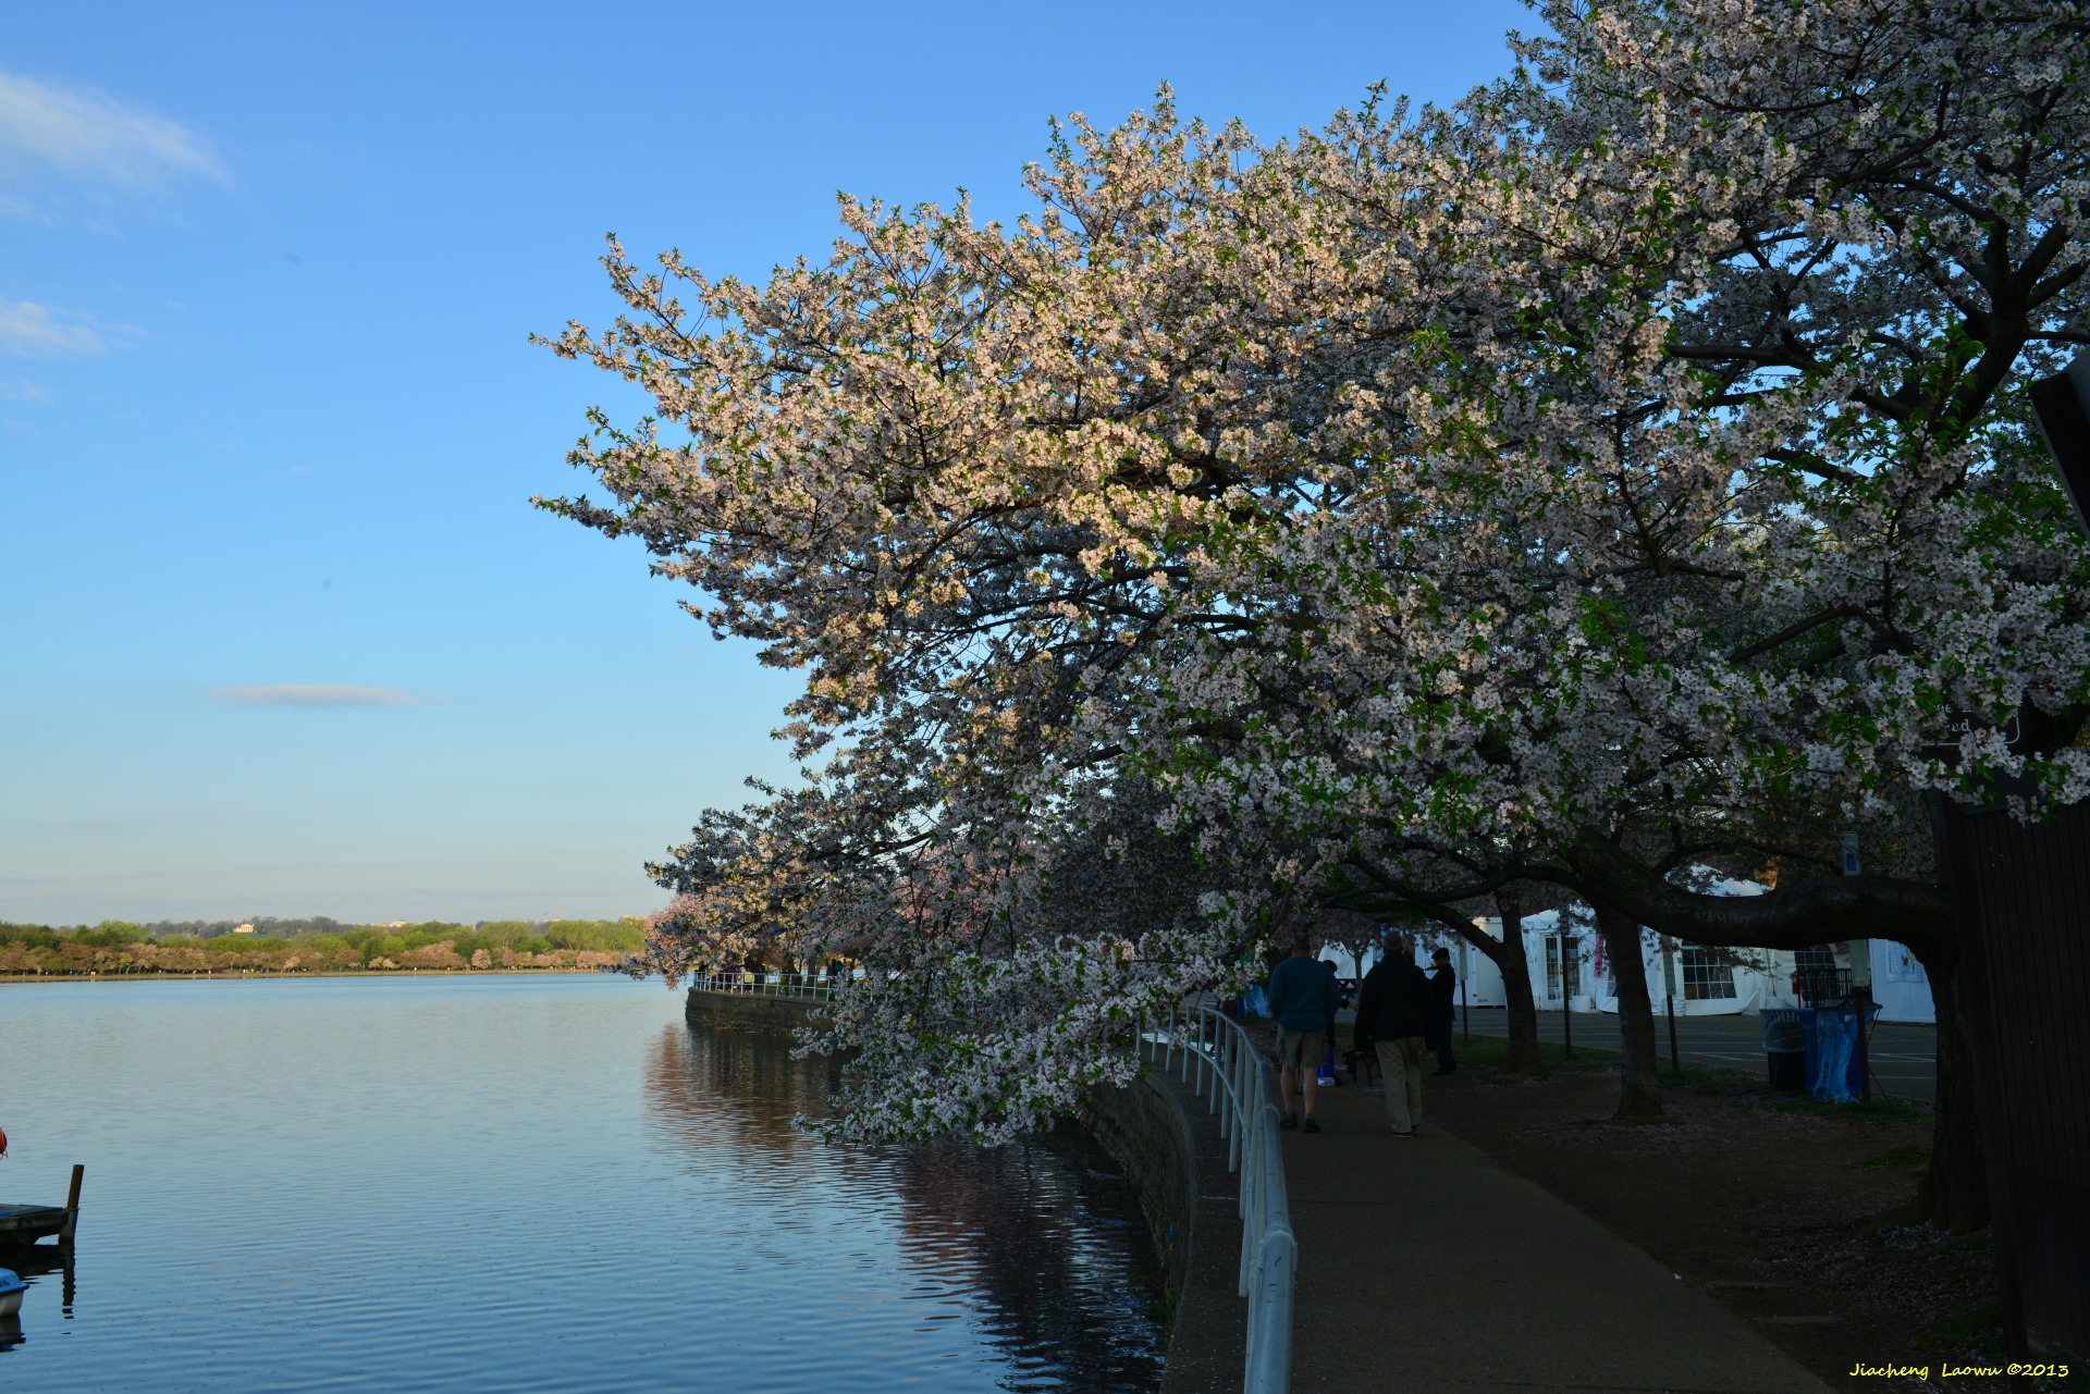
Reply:
[[[648,1126],[692,1170],[780,1160],[821,1185],[899,1200],[909,1296],[951,1298],[1007,1356],[1009,1390],[1120,1394],[1160,1384],[1143,1225],[1110,1162],[1066,1133],[1012,1147],[838,1149],[790,1126],[828,1103],[832,1064],[792,1060],[773,1030],[669,1026],[646,1053]],[[796,1177],[794,1181],[805,1181]],[[924,1321],[940,1312],[924,1306]]]

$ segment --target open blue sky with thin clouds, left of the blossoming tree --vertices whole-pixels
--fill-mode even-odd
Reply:
[[[792,673],[531,510],[604,232],[759,276],[834,194],[1020,209],[1051,113],[1275,136],[1507,67],[1501,0],[13,6],[0,920],[606,915]]]

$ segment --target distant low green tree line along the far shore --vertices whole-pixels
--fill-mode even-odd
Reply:
[[[253,934],[234,934],[242,924]],[[343,924],[255,920],[94,926],[0,922],[0,976],[213,972],[502,972],[606,968],[644,945],[646,922],[481,920]]]

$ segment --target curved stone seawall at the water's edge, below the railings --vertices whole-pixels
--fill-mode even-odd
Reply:
[[[805,1026],[817,1001],[690,989],[692,1026]],[[1162,1262],[1168,1356],[1160,1394],[1237,1394],[1248,1304],[1239,1298],[1239,1183],[1218,1122],[1172,1074],[1147,1066],[1124,1089],[1097,1089],[1081,1124],[1124,1170]]]

